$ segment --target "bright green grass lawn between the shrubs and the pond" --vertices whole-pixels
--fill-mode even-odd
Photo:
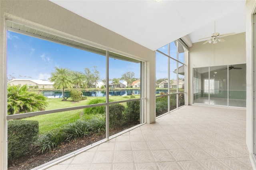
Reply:
[[[140,98],[140,95],[135,95],[136,98]],[[72,102],[70,101],[61,101],[62,99],[48,99],[49,105],[46,108],[46,110],[52,110],[52,109],[62,109],[62,108],[68,108],[68,107],[76,107],[76,106],[84,106],[88,105],[87,103],[98,97],[88,97],[87,100],[79,101],[79,102]],[[105,97],[103,97],[105,98]],[[124,98],[123,96],[110,96],[110,99],[113,99],[114,101],[123,101],[130,99],[130,96],[128,98]],[[121,103],[122,105],[126,106],[126,103]],[[83,109],[78,109],[74,111],[64,111],[59,113],[52,113],[52,114],[46,114],[46,115],[39,115],[34,117],[26,118],[26,120],[34,120],[39,122],[39,133],[43,134],[48,132],[49,130],[61,127],[63,125],[66,125],[68,123],[72,123],[77,119],[80,119],[81,115],[83,114]]]

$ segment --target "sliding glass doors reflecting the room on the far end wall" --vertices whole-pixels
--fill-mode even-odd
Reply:
[[[246,107],[246,64],[194,68],[194,103]]]

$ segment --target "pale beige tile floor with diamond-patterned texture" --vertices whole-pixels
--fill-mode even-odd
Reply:
[[[252,170],[246,111],[185,106],[48,170]]]

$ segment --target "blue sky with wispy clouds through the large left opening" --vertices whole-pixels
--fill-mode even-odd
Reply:
[[[10,31],[7,33],[7,77],[48,79],[55,67],[84,72],[84,68],[92,70],[94,65],[100,78],[106,79],[105,55]],[[120,78],[127,71],[133,71],[136,78],[140,77],[140,63],[110,58],[109,65],[110,79]]]

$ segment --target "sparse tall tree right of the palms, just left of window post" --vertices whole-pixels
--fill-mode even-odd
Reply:
[[[96,69],[97,66],[93,66],[93,67],[94,69],[92,71],[89,68],[84,69],[85,76],[86,76],[86,83],[89,88],[96,87],[96,84],[100,80],[100,75],[99,75],[100,73]]]

